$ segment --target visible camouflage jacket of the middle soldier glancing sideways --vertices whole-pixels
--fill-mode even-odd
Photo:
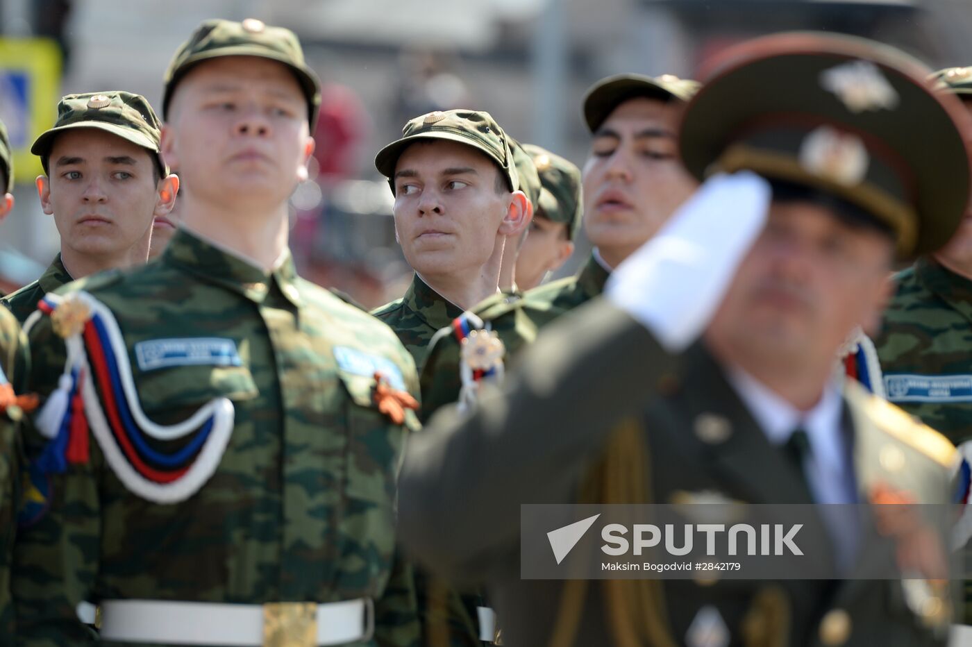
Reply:
[[[404,296],[372,310],[371,314],[395,330],[415,359],[415,365],[421,369],[435,331],[448,325],[463,311],[442,298],[416,274]]]

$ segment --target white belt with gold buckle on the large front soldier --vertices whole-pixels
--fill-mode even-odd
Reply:
[[[100,608],[102,640],[260,647],[273,631],[280,636],[306,631],[314,636],[308,645],[340,645],[367,640],[374,632],[370,597],[263,605],[120,599],[103,601]]]

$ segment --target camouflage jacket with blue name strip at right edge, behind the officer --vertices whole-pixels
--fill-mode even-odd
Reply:
[[[874,340],[887,399],[956,445],[972,438],[972,281],[922,257]]]

